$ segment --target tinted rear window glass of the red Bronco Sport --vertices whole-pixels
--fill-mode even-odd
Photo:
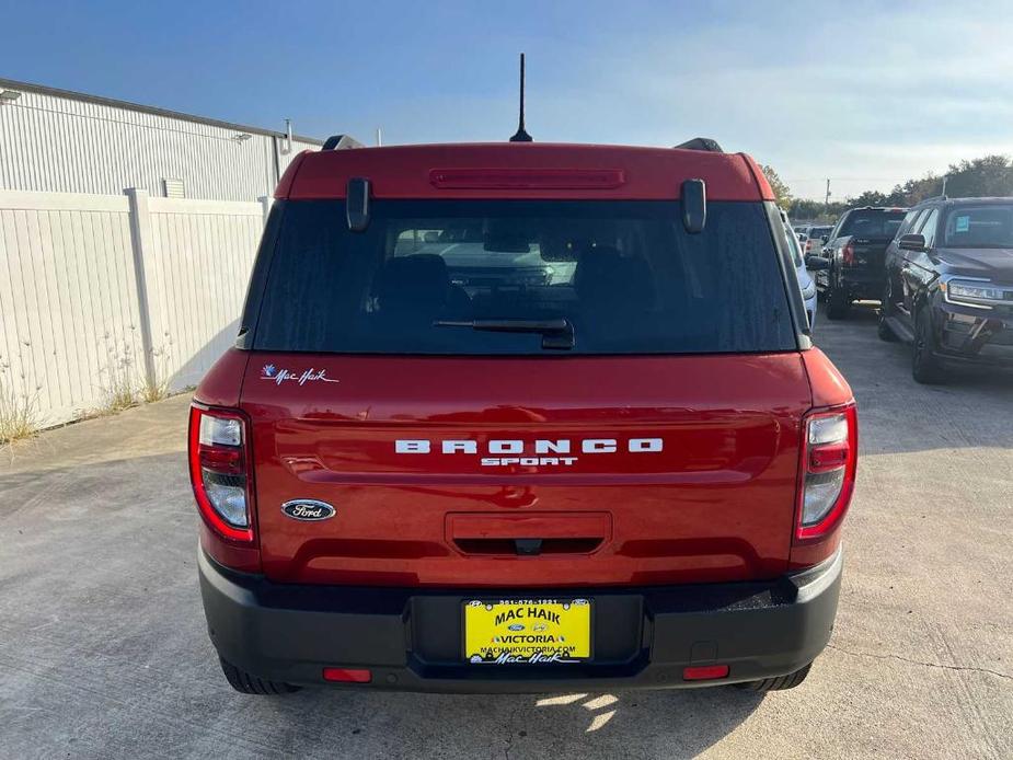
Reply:
[[[671,201],[376,200],[370,210],[354,233],[343,201],[284,205],[254,348],[542,355],[555,349],[537,327],[561,320],[567,354],[796,348],[762,204],[711,203],[699,234]]]

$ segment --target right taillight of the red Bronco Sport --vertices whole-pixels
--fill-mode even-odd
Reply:
[[[795,539],[819,539],[836,528],[854,491],[859,425],[854,403],[810,412],[803,423],[802,487]]]

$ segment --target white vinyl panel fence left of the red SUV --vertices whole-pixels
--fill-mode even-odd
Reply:
[[[0,393],[56,424],[195,384],[235,337],[268,203],[0,191]]]

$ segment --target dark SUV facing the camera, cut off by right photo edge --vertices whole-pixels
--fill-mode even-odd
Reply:
[[[1013,198],[931,198],[886,255],[879,337],[914,347],[918,382],[953,364],[1013,368]]]

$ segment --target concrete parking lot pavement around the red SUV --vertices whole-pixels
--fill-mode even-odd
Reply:
[[[1013,757],[1013,381],[917,385],[870,309],[818,343],[863,457],[837,629],[801,688],[235,694],[175,398],[0,453],[0,756]]]

